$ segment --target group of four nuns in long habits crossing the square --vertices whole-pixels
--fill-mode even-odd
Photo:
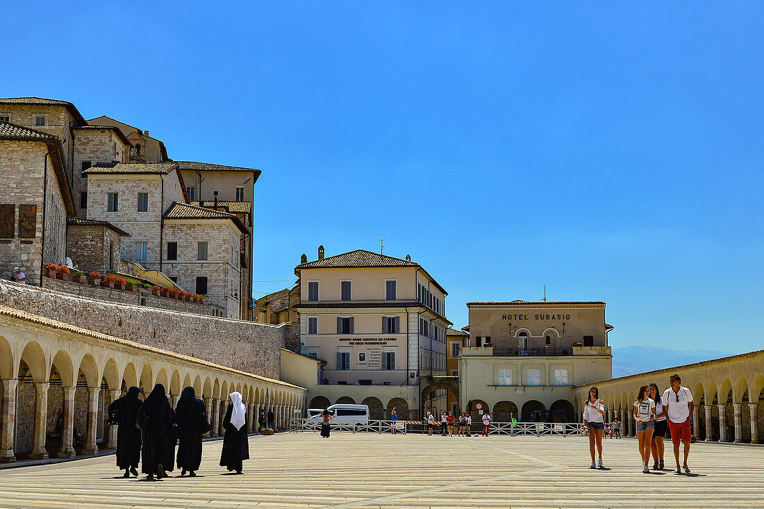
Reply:
[[[202,436],[212,430],[202,400],[193,387],[186,387],[173,410],[162,384],[154,385],[145,401],[138,399],[140,392],[130,387],[128,394],[108,407],[109,424],[117,425],[117,466],[125,470],[123,477],[138,477],[139,459],[147,479],[166,477],[175,469],[176,445],[180,475],[194,477],[202,463]],[[242,462],[249,459],[247,407],[238,392],[228,399],[220,466],[241,474]]]

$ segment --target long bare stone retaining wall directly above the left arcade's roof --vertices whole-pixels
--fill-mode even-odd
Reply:
[[[83,329],[280,379],[280,349],[285,342],[286,326],[108,303],[5,282],[0,282],[0,304]]]

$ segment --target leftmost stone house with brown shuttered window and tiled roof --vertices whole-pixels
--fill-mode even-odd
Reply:
[[[69,115],[66,108],[60,115],[53,110],[40,114],[47,125],[58,125]],[[32,118],[14,111],[15,120],[29,123]],[[0,175],[0,274],[11,277],[18,266],[29,284],[40,284],[44,264],[66,258],[66,216],[74,214],[66,148],[50,132],[0,122]]]

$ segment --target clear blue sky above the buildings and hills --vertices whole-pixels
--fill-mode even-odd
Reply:
[[[255,280],[384,237],[455,326],[546,284],[613,346],[762,348],[761,2],[26,4],[0,96],[263,170]]]

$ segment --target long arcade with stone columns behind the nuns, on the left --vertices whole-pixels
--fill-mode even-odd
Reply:
[[[303,387],[0,306],[0,462],[113,449],[108,405],[128,387],[147,394],[154,384],[164,385],[173,407],[194,387],[212,436],[223,433],[233,391],[247,404],[250,432],[261,410],[273,410],[285,428],[306,404]]]

